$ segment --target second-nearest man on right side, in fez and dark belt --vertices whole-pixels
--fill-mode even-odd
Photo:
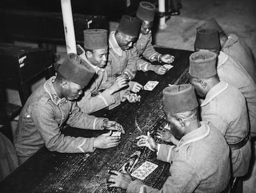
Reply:
[[[199,51],[189,57],[189,81],[199,97],[203,121],[221,131],[231,149],[233,177],[247,174],[251,148],[249,120],[244,96],[234,86],[220,81],[216,72],[216,54]]]

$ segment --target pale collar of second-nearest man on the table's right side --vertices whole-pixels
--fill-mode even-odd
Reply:
[[[207,105],[209,102],[215,99],[216,96],[226,91],[226,89],[228,89],[228,83],[220,81],[220,83],[216,84],[213,86],[213,88],[210,89],[210,91],[205,96],[205,101],[202,102],[200,107]]]

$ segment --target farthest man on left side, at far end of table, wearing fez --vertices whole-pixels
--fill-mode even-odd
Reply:
[[[158,75],[164,75],[167,72],[164,65],[152,65],[150,62],[158,61],[170,64],[174,61],[174,56],[169,54],[162,55],[156,52],[151,44],[151,27],[153,26],[155,9],[156,7],[150,2],[140,2],[136,15],[137,18],[142,20],[142,26],[140,27],[139,39],[132,48],[132,54],[137,61],[137,70],[142,70],[143,72],[151,70]],[[142,56],[150,62],[143,60]]]

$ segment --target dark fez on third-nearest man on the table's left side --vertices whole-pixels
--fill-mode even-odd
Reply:
[[[140,25],[141,21],[139,18],[130,17],[129,15],[122,15],[117,30],[124,33],[125,35],[138,37],[140,32]]]

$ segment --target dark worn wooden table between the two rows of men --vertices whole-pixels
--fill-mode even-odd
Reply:
[[[156,47],[163,54],[176,57],[174,67],[166,75],[153,72],[138,72],[135,80],[141,84],[148,80],[159,81],[153,91],[141,91],[142,101],[136,104],[124,102],[111,111],[96,112],[98,117],[116,120],[126,130],[121,144],[111,149],[96,149],[93,154],[61,154],[49,152],[45,147],[30,157],[0,184],[0,192],[124,192],[121,189],[108,189],[107,170],[120,170],[125,163],[134,161],[132,154],[139,156],[139,162],[132,171],[149,161],[156,163],[156,168],[143,182],[160,189],[169,175],[169,163],[156,160],[156,153],[145,147],[137,147],[135,139],[140,134],[151,131],[166,124],[163,113],[163,89],[168,84],[181,84],[188,81],[190,51]],[[96,136],[102,131],[86,131],[83,129],[65,129],[65,134],[72,136]]]

